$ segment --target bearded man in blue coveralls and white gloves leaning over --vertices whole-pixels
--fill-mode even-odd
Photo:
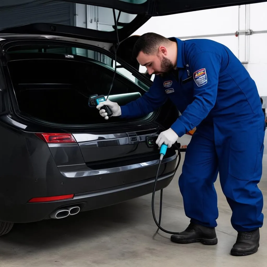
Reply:
[[[219,173],[232,210],[231,225],[237,231],[231,254],[257,252],[263,225],[263,196],[257,184],[262,175],[265,120],[255,82],[226,46],[212,40],[182,41],[146,33],[136,41],[133,56],[149,74],[156,74],[150,90],[121,107],[107,100],[97,106],[100,115],[108,119],[101,109],[107,105],[112,116],[140,117],[170,98],[182,115],[159,134],[159,147],[163,143],[171,147],[197,126],[179,177],[190,224],[172,235],[171,241],[217,244],[214,182]]]

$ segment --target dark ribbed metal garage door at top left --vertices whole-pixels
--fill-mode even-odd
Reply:
[[[1,0],[0,2],[0,29],[37,22],[73,25],[74,4],[70,2],[51,0]]]

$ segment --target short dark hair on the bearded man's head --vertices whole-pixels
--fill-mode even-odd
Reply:
[[[133,47],[133,58],[137,58],[142,51],[144,54],[154,54],[160,45],[166,45],[171,41],[157,33],[145,33],[141,35]]]

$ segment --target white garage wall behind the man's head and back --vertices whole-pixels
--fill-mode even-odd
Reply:
[[[249,13],[248,10],[250,10]],[[245,30],[246,28],[253,31],[267,30],[266,10],[267,2],[264,2],[153,17],[133,35],[155,32],[165,37],[181,38],[207,34],[235,33],[239,29]],[[248,19],[248,14],[250,19]],[[241,62],[248,60],[248,64],[244,64],[245,68],[255,80],[260,96],[267,96],[267,33],[252,34],[246,37],[244,35],[239,37],[232,35],[203,38],[226,45]],[[246,45],[245,38],[248,40]],[[183,38],[183,40],[185,39]],[[248,52],[246,56],[245,48],[247,48]]]

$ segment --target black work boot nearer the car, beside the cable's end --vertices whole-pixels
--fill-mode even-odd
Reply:
[[[204,245],[216,245],[218,243],[215,228],[194,223],[190,223],[183,232],[172,235],[171,241],[179,244],[201,242]]]

